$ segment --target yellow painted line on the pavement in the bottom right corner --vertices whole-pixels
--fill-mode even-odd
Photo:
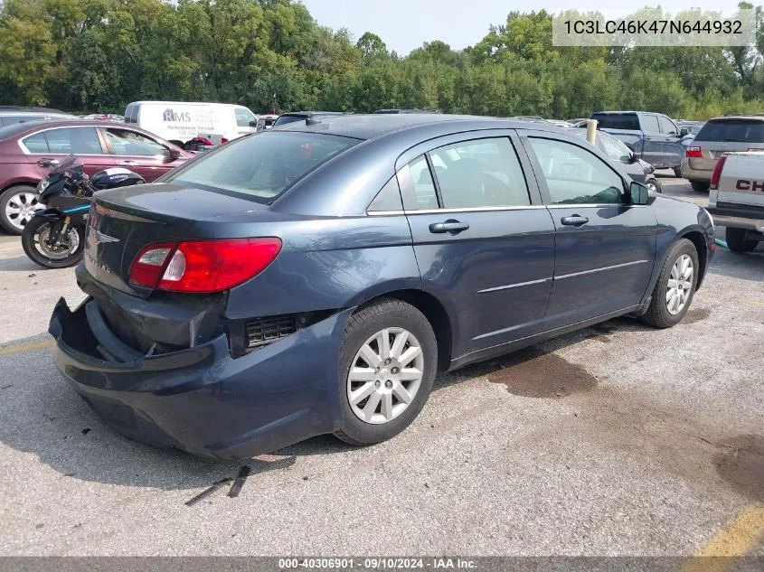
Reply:
[[[752,504],[695,553],[682,572],[723,572],[733,558],[745,554],[764,533],[764,505]]]

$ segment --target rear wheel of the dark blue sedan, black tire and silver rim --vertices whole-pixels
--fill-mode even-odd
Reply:
[[[424,314],[384,298],[351,316],[339,365],[343,427],[335,436],[373,445],[419,415],[438,369],[438,343]]]

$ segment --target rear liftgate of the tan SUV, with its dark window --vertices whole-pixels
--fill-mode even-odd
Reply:
[[[688,157],[691,169],[708,173],[711,179],[716,160],[722,154],[764,149],[764,120],[761,117],[720,117],[709,119],[693,139],[701,148],[700,157]]]

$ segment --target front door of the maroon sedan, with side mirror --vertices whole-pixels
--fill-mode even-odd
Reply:
[[[142,133],[125,127],[101,129],[115,163],[134,171],[151,183],[183,161],[172,160],[169,149]]]

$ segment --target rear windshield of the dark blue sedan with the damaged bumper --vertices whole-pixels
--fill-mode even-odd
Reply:
[[[222,145],[163,180],[269,203],[320,164],[360,142],[315,133],[260,132]]]

